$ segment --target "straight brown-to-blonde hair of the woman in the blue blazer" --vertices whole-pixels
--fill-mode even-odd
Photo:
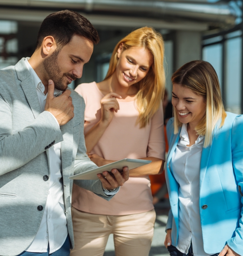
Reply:
[[[205,136],[204,147],[212,144],[213,129],[219,121],[223,126],[225,113],[220,91],[220,83],[213,66],[203,60],[193,60],[184,64],[172,75],[172,83],[180,84],[195,94],[203,96],[206,102],[204,118],[195,127],[197,133]],[[178,120],[177,111],[174,111],[174,133],[178,133],[178,128],[182,123]]]

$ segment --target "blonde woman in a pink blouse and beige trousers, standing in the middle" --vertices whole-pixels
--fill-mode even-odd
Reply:
[[[102,256],[111,233],[116,256],[148,256],[155,221],[148,175],[160,173],[165,159],[163,59],[161,34],[143,27],[116,45],[105,80],[76,88],[86,104],[85,144],[94,163],[152,162],[130,170],[110,202],[74,186],[72,256]]]

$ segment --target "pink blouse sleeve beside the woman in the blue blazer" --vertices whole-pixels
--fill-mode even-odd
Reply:
[[[158,111],[151,118],[151,130],[148,141],[147,157],[165,160],[164,114],[162,102]]]

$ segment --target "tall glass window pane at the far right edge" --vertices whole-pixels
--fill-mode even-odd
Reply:
[[[226,107],[227,111],[241,113],[241,37],[229,39],[225,44]]]

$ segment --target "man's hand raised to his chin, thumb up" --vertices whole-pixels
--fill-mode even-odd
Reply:
[[[68,123],[74,117],[74,107],[72,105],[71,91],[65,90],[62,95],[54,97],[55,85],[53,80],[49,80],[48,94],[46,97],[45,110],[56,117],[59,125]]]

